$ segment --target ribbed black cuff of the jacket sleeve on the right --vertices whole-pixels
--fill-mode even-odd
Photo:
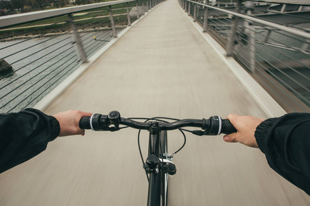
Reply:
[[[266,134],[267,131],[269,130],[271,124],[276,120],[277,118],[270,118],[270,119],[266,119],[264,122],[261,122],[255,130],[255,138],[256,138],[256,142],[258,144],[258,148],[260,148],[260,150],[266,154]]]

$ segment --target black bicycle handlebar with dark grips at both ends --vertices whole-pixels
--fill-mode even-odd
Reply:
[[[151,118],[152,120],[152,118]],[[222,119],[219,116],[212,116],[209,119],[181,119],[176,122],[136,122],[126,117],[121,117],[118,111],[112,111],[108,115],[94,114],[91,117],[82,117],[79,126],[82,129],[92,130],[119,130],[119,125],[130,126],[132,128],[158,132],[160,130],[176,130],[183,127],[197,127],[203,130],[194,130],[195,135],[220,135],[220,133],[236,133],[237,130],[229,119]],[[111,126],[114,125],[114,126]]]

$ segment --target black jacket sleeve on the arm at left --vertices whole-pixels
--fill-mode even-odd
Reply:
[[[56,118],[34,108],[0,114],[0,173],[43,152],[59,132]]]

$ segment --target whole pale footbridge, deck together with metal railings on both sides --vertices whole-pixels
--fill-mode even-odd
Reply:
[[[125,8],[117,6],[121,3]],[[225,16],[223,8],[194,1],[87,6],[92,8],[17,15],[10,25],[4,25],[6,19],[2,19],[2,30],[8,32],[25,18],[69,16],[68,21],[59,19],[48,28],[48,34],[28,34],[31,40],[39,38],[48,52],[39,49],[38,41],[27,42],[29,36],[1,38],[6,44],[1,47],[6,53],[1,55],[8,56],[1,59],[14,70],[1,76],[1,101],[8,102],[1,106],[2,111],[34,106],[50,115],[70,109],[103,114],[118,110],[127,117],[179,119],[229,113],[268,118],[291,111],[309,112],[310,37],[305,29],[267,23],[247,13],[253,12],[249,8],[244,13],[227,10]],[[100,11],[107,13],[96,16],[96,9],[103,6],[107,9]],[[74,14],[89,9],[94,12],[92,19],[108,19],[107,27],[99,29],[93,22],[79,25],[82,21]],[[45,24],[41,23],[50,26]],[[61,24],[73,32],[61,27],[57,35],[62,36],[54,38],[52,30]],[[91,31],[87,24],[92,25]],[[23,27],[32,30],[33,25]],[[285,38],[278,36],[281,34]],[[47,43],[50,38],[54,39]],[[66,38],[70,39],[68,45]],[[285,43],[288,39],[291,44]],[[22,58],[29,55],[24,47],[17,49],[21,42],[36,48],[27,62],[14,57],[15,53]],[[9,55],[9,50],[14,52]],[[58,52],[54,61],[52,51]],[[275,52],[282,56],[271,58]],[[290,52],[298,54],[291,56]],[[39,63],[34,63],[35,58]],[[42,65],[44,69],[40,69]],[[42,82],[45,77],[48,80]],[[52,89],[45,89],[50,83]],[[14,89],[5,87],[12,84]],[[24,91],[19,93],[20,89]],[[146,155],[147,133],[142,135]],[[0,175],[0,205],[145,205],[147,179],[136,137],[137,131],[132,129],[59,137],[37,157]],[[168,137],[169,150],[183,144],[178,132],[168,133]],[[187,135],[187,144],[174,163],[177,172],[169,181],[169,205],[310,203],[307,194],[269,168],[259,149],[227,144],[222,137]]]

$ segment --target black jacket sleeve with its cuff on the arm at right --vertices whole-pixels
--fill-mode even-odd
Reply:
[[[310,195],[310,114],[267,119],[255,137],[270,167]]]

